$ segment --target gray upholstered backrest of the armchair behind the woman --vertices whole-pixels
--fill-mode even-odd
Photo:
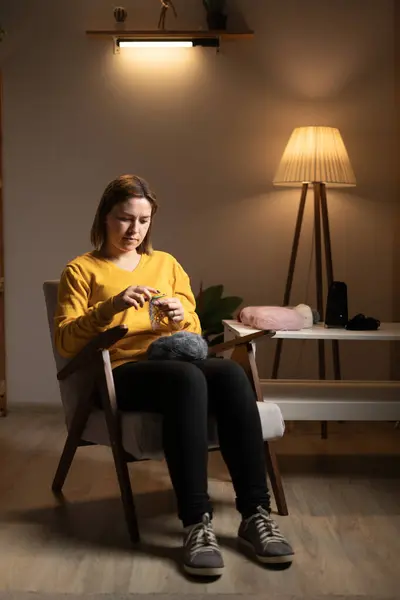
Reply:
[[[57,352],[54,341],[54,316],[57,307],[58,284],[58,280],[45,281],[43,283],[43,293],[47,308],[47,321],[49,324],[54,360],[57,371],[60,371],[67,364],[68,359],[63,358]],[[80,398],[86,396],[93,389],[94,380],[93,376],[82,370],[71,375],[64,381],[59,381],[58,384],[68,426]]]

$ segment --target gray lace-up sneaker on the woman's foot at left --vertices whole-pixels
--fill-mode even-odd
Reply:
[[[184,541],[183,568],[189,575],[216,577],[222,574],[224,561],[215,537],[210,515],[193,525]]]

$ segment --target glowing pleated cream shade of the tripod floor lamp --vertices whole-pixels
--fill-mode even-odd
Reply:
[[[274,177],[274,185],[303,183],[356,185],[356,178],[340,132],[335,127],[297,127],[290,136]]]

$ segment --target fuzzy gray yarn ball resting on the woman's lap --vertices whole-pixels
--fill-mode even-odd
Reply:
[[[178,331],[171,336],[161,336],[147,350],[149,360],[204,360],[208,345],[198,333]]]

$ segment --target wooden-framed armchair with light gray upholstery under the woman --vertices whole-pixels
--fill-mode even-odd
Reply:
[[[46,281],[43,291],[57,367],[57,379],[65,412],[67,439],[53,480],[52,490],[61,493],[69,468],[79,446],[111,447],[117,473],[128,532],[132,542],[138,542],[139,527],[129,478],[128,463],[162,459],[161,415],[127,413],[117,409],[114,380],[108,349],[127,332],[124,326],[113,327],[98,335],[71,360],[62,358],[54,346],[54,314],[57,304],[58,281]],[[284,434],[284,421],[279,407],[264,402],[254,360],[252,341],[268,335],[258,332],[215,346],[212,354],[233,350],[232,358],[243,365],[257,394],[267,469],[275,495],[278,512],[287,515],[285,494],[271,440]],[[210,351],[211,353],[211,351]],[[100,392],[103,410],[94,404],[94,392]],[[209,421],[209,448],[218,448],[215,419]]]

